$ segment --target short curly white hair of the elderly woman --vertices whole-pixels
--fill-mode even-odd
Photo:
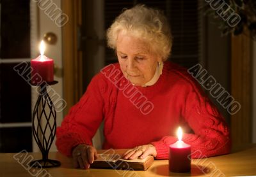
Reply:
[[[150,50],[167,60],[172,50],[172,33],[167,18],[159,10],[138,4],[124,10],[106,33],[108,46],[116,50],[119,32],[125,32],[148,42]]]

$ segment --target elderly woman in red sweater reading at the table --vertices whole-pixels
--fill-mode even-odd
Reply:
[[[162,13],[143,5],[125,10],[107,38],[118,63],[93,77],[56,132],[58,150],[76,167],[88,169],[97,159],[92,138],[102,121],[102,148],[127,148],[124,159],[168,159],[179,126],[192,158],[230,152],[228,127],[216,107],[186,69],[166,61],[172,35]]]

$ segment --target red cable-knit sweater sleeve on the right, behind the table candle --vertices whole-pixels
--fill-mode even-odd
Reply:
[[[192,133],[184,133],[182,141],[191,145],[191,158],[212,157],[230,152],[230,132],[224,118],[217,108],[204,96],[196,84],[191,84],[184,94],[184,106],[181,119],[192,129]],[[177,141],[175,136],[164,136],[152,142],[156,147],[156,159],[168,159],[169,146]]]

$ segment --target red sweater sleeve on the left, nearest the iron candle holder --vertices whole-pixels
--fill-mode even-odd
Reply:
[[[64,155],[72,155],[72,148],[76,145],[92,145],[92,138],[103,118],[104,87],[106,84],[99,74],[96,75],[83,97],[72,106],[61,126],[57,128],[56,146]]]

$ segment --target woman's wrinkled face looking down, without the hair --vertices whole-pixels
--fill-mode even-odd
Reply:
[[[145,85],[156,71],[159,57],[150,53],[148,43],[143,39],[122,32],[116,40],[118,62],[124,76],[134,85]]]

